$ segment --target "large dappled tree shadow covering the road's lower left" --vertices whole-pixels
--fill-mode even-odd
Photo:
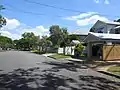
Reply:
[[[0,90],[73,90],[68,83],[76,83],[72,78],[53,73],[40,73],[38,67],[16,69],[6,74],[0,74]]]

